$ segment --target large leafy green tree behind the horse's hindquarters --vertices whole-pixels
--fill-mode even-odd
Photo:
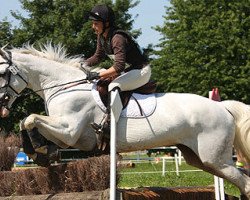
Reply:
[[[223,99],[250,103],[250,2],[172,0],[163,38],[153,62],[162,91],[207,96],[213,87]]]

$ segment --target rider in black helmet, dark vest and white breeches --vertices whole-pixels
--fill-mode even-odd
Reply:
[[[89,13],[92,28],[97,35],[95,54],[84,61],[84,66],[100,63],[106,56],[113,60],[107,70],[89,72],[88,80],[109,79],[109,91],[119,88],[129,91],[145,85],[151,76],[151,68],[138,44],[125,31],[115,26],[113,10],[107,5],[97,5]],[[100,125],[93,124],[95,129]]]

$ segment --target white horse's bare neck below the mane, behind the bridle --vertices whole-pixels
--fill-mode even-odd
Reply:
[[[18,56],[22,56],[21,61],[17,60],[17,63],[19,63],[18,67],[21,68],[20,70],[27,76],[27,87],[33,91],[40,90],[41,92],[38,92],[38,94],[42,98],[46,98],[46,96],[50,96],[60,89],[60,87],[47,88],[76,81],[84,77],[84,73],[81,70],[62,63],[29,54]]]

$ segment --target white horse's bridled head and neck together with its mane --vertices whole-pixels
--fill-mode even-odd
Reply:
[[[66,50],[61,45],[53,47],[50,43],[41,46],[40,50],[32,45],[25,45],[20,49],[14,48],[11,51],[2,48],[0,117],[7,115],[7,110],[25,87],[34,92],[40,91],[39,95],[42,98],[49,99],[63,85],[85,79],[86,73],[79,69],[80,61],[82,61],[80,56],[67,57]]]

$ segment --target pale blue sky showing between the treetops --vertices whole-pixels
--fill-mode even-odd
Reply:
[[[0,20],[7,17],[7,20],[16,26],[18,22],[11,16],[10,10],[19,11],[25,16],[19,0],[0,0],[0,5]],[[137,39],[141,47],[147,47],[148,44],[159,44],[161,35],[152,27],[163,25],[163,16],[166,13],[165,7],[169,5],[169,0],[140,0],[139,5],[130,10],[132,16],[135,17],[138,14],[133,28],[141,28],[142,30],[141,36]]]

